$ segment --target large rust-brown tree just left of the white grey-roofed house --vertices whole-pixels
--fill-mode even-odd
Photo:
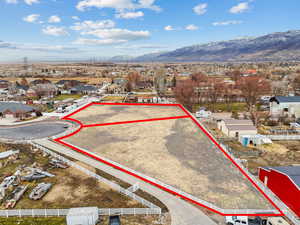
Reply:
[[[271,91],[270,82],[258,76],[242,77],[236,85],[241,90],[249,111],[257,104],[260,96],[269,94]]]

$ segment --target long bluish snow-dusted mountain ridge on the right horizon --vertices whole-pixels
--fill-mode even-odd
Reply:
[[[300,60],[300,30],[256,38],[212,42],[165,53],[147,54],[132,61],[230,62]]]

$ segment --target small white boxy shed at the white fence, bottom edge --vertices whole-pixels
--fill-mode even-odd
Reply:
[[[67,225],[95,225],[98,220],[97,207],[72,208],[67,215]]]

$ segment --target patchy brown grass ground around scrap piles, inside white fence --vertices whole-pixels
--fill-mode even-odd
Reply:
[[[16,160],[0,160],[0,183],[8,176],[12,175],[21,166],[36,166],[52,173],[55,177],[44,178],[33,182],[22,182],[29,186],[28,190],[17,203],[17,209],[31,208],[71,208],[97,206],[99,208],[144,208],[144,206],[119,192],[112,190],[108,185],[97,181],[78,169],[69,167],[67,169],[51,169],[50,158],[43,156],[39,152],[31,151],[29,145],[14,145],[0,143],[0,152],[10,149],[19,149],[20,154]],[[6,162],[8,161],[8,162]],[[84,167],[88,167],[82,164]],[[88,167],[93,171],[92,167]],[[93,171],[99,173],[99,171]],[[41,182],[50,182],[53,187],[38,201],[29,199],[32,189]],[[13,191],[9,188],[7,193]],[[4,209],[3,202],[0,201],[0,209]]]

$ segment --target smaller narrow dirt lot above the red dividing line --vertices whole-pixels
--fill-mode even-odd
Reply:
[[[174,106],[92,105],[71,118],[84,124],[99,124],[185,115],[179,107]]]

